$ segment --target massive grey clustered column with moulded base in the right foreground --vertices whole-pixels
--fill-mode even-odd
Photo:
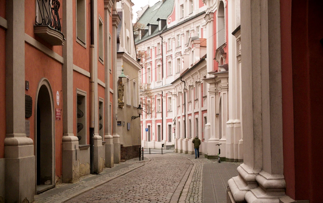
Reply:
[[[241,33],[244,163],[228,184],[236,202],[279,203],[285,196],[279,1],[241,1]]]

